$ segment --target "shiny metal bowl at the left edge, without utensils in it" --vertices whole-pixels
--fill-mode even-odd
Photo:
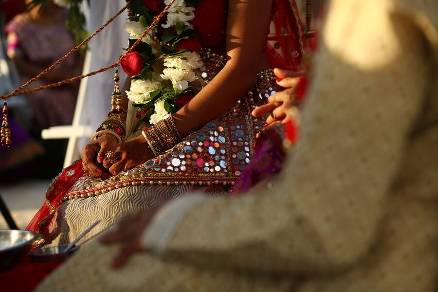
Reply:
[[[39,235],[26,230],[0,230],[0,270],[6,270],[24,256]]]

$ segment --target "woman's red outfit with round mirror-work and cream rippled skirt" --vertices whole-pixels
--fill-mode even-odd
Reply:
[[[199,75],[201,84],[207,84],[225,65],[220,54],[225,52],[227,3],[202,0],[191,21],[202,47],[208,48],[198,52],[207,69]],[[294,0],[273,0],[265,47],[273,68],[298,70],[304,34],[296,11]],[[253,118],[251,111],[277,90],[281,89],[272,71],[260,72],[254,87],[223,116],[163,155],[105,181],[84,174],[81,161],[73,163],[53,180],[44,205],[27,227],[41,234],[35,246],[70,242],[101,219],[93,230],[98,232],[133,209],[151,207],[160,196],[176,198],[195,191],[227,195],[254,154],[255,136],[265,124],[264,118]]]

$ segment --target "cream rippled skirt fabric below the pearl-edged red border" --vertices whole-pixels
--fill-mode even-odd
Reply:
[[[107,226],[117,223],[124,215],[154,206],[160,198],[180,198],[195,192],[209,197],[227,196],[229,187],[223,185],[138,185],[112,190],[96,197],[64,202],[50,224],[51,236],[44,246],[68,244],[97,219],[100,223],[83,237],[86,241]]]

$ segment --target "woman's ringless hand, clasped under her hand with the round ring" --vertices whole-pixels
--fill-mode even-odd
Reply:
[[[110,174],[101,167],[105,153],[117,145],[117,138],[111,134],[103,134],[98,139],[82,148],[82,168],[92,176],[109,178]]]

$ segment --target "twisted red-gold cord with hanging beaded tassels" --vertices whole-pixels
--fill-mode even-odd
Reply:
[[[29,80],[28,82],[26,82],[25,84],[21,85],[20,87],[18,87],[17,89],[15,89],[14,91],[12,91],[11,93],[8,94],[4,94],[0,96],[0,99],[3,99],[3,121],[1,124],[1,128],[0,128],[0,145],[1,146],[11,146],[11,130],[9,128],[9,124],[8,124],[8,118],[7,118],[7,113],[8,113],[8,109],[6,107],[7,103],[6,103],[6,99],[13,97],[13,96],[17,96],[17,95],[23,95],[23,94],[28,94],[28,93],[32,93],[32,92],[36,92],[36,91],[40,91],[40,90],[44,90],[44,89],[48,89],[48,88],[54,88],[54,87],[58,87],[67,83],[71,83],[73,81],[76,80],[81,80],[84,79],[85,77],[89,77],[104,71],[107,71],[111,68],[115,68],[115,76],[114,76],[114,81],[117,83],[117,88],[114,87],[114,91],[113,91],[113,96],[112,99],[115,101],[114,102],[114,106],[113,109],[111,111],[114,112],[119,112],[121,110],[121,99],[120,99],[120,91],[118,90],[118,76],[117,76],[117,66],[119,65],[120,61],[123,60],[126,55],[128,55],[129,53],[132,52],[132,50],[137,47],[137,45],[142,41],[142,39],[149,33],[149,31],[158,24],[158,22],[160,22],[160,19],[164,17],[164,14],[167,12],[167,10],[169,10],[170,6],[172,6],[172,4],[175,2],[175,0],[170,1],[170,3],[164,8],[164,10],[158,15],[154,17],[154,20],[152,21],[152,23],[149,25],[148,28],[146,28],[146,30],[143,32],[143,34],[141,35],[141,37],[139,37],[133,44],[132,46],[130,46],[128,48],[128,50],[126,51],[125,54],[121,55],[120,58],[117,60],[117,62],[111,64],[110,66],[106,66],[103,67],[99,70],[87,73],[87,74],[83,74],[83,75],[78,75],[69,79],[65,79],[59,82],[55,82],[55,83],[51,83],[51,84],[47,84],[47,85],[43,85],[43,86],[39,86],[33,89],[28,89],[28,90],[22,90],[25,87],[27,87],[29,84],[32,84],[33,82],[35,82],[39,77],[41,77],[42,75],[44,75],[45,73],[49,72],[50,70],[52,70],[53,68],[55,68],[59,63],[61,63],[62,61],[64,61],[68,56],[72,55],[74,52],[76,52],[81,46],[83,46],[84,44],[86,44],[92,37],[94,37],[95,35],[97,35],[98,33],[100,33],[105,27],[107,27],[116,17],[118,17],[123,11],[125,11],[128,6],[129,6],[129,2],[125,5],[125,7],[123,7],[119,12],[117,12],[112,18],[110,18],[104,25],[102,25],[99,29],[97,29],[90,37],[87,37],[84,41],[82,41],[79,45],[77,45],[76,47],[74,47],[69,53],[67,53],[66,55],[64,55],[63,57],[61,57],[59,60],[57,60],[52,66],[46,68],[45,70],[43,70],[41,73],[39,73],[37,76],[33,77],[31,80]],[[114,93],[116,92],[116,93]],[[118,94],[117,94],[118,93]]]

